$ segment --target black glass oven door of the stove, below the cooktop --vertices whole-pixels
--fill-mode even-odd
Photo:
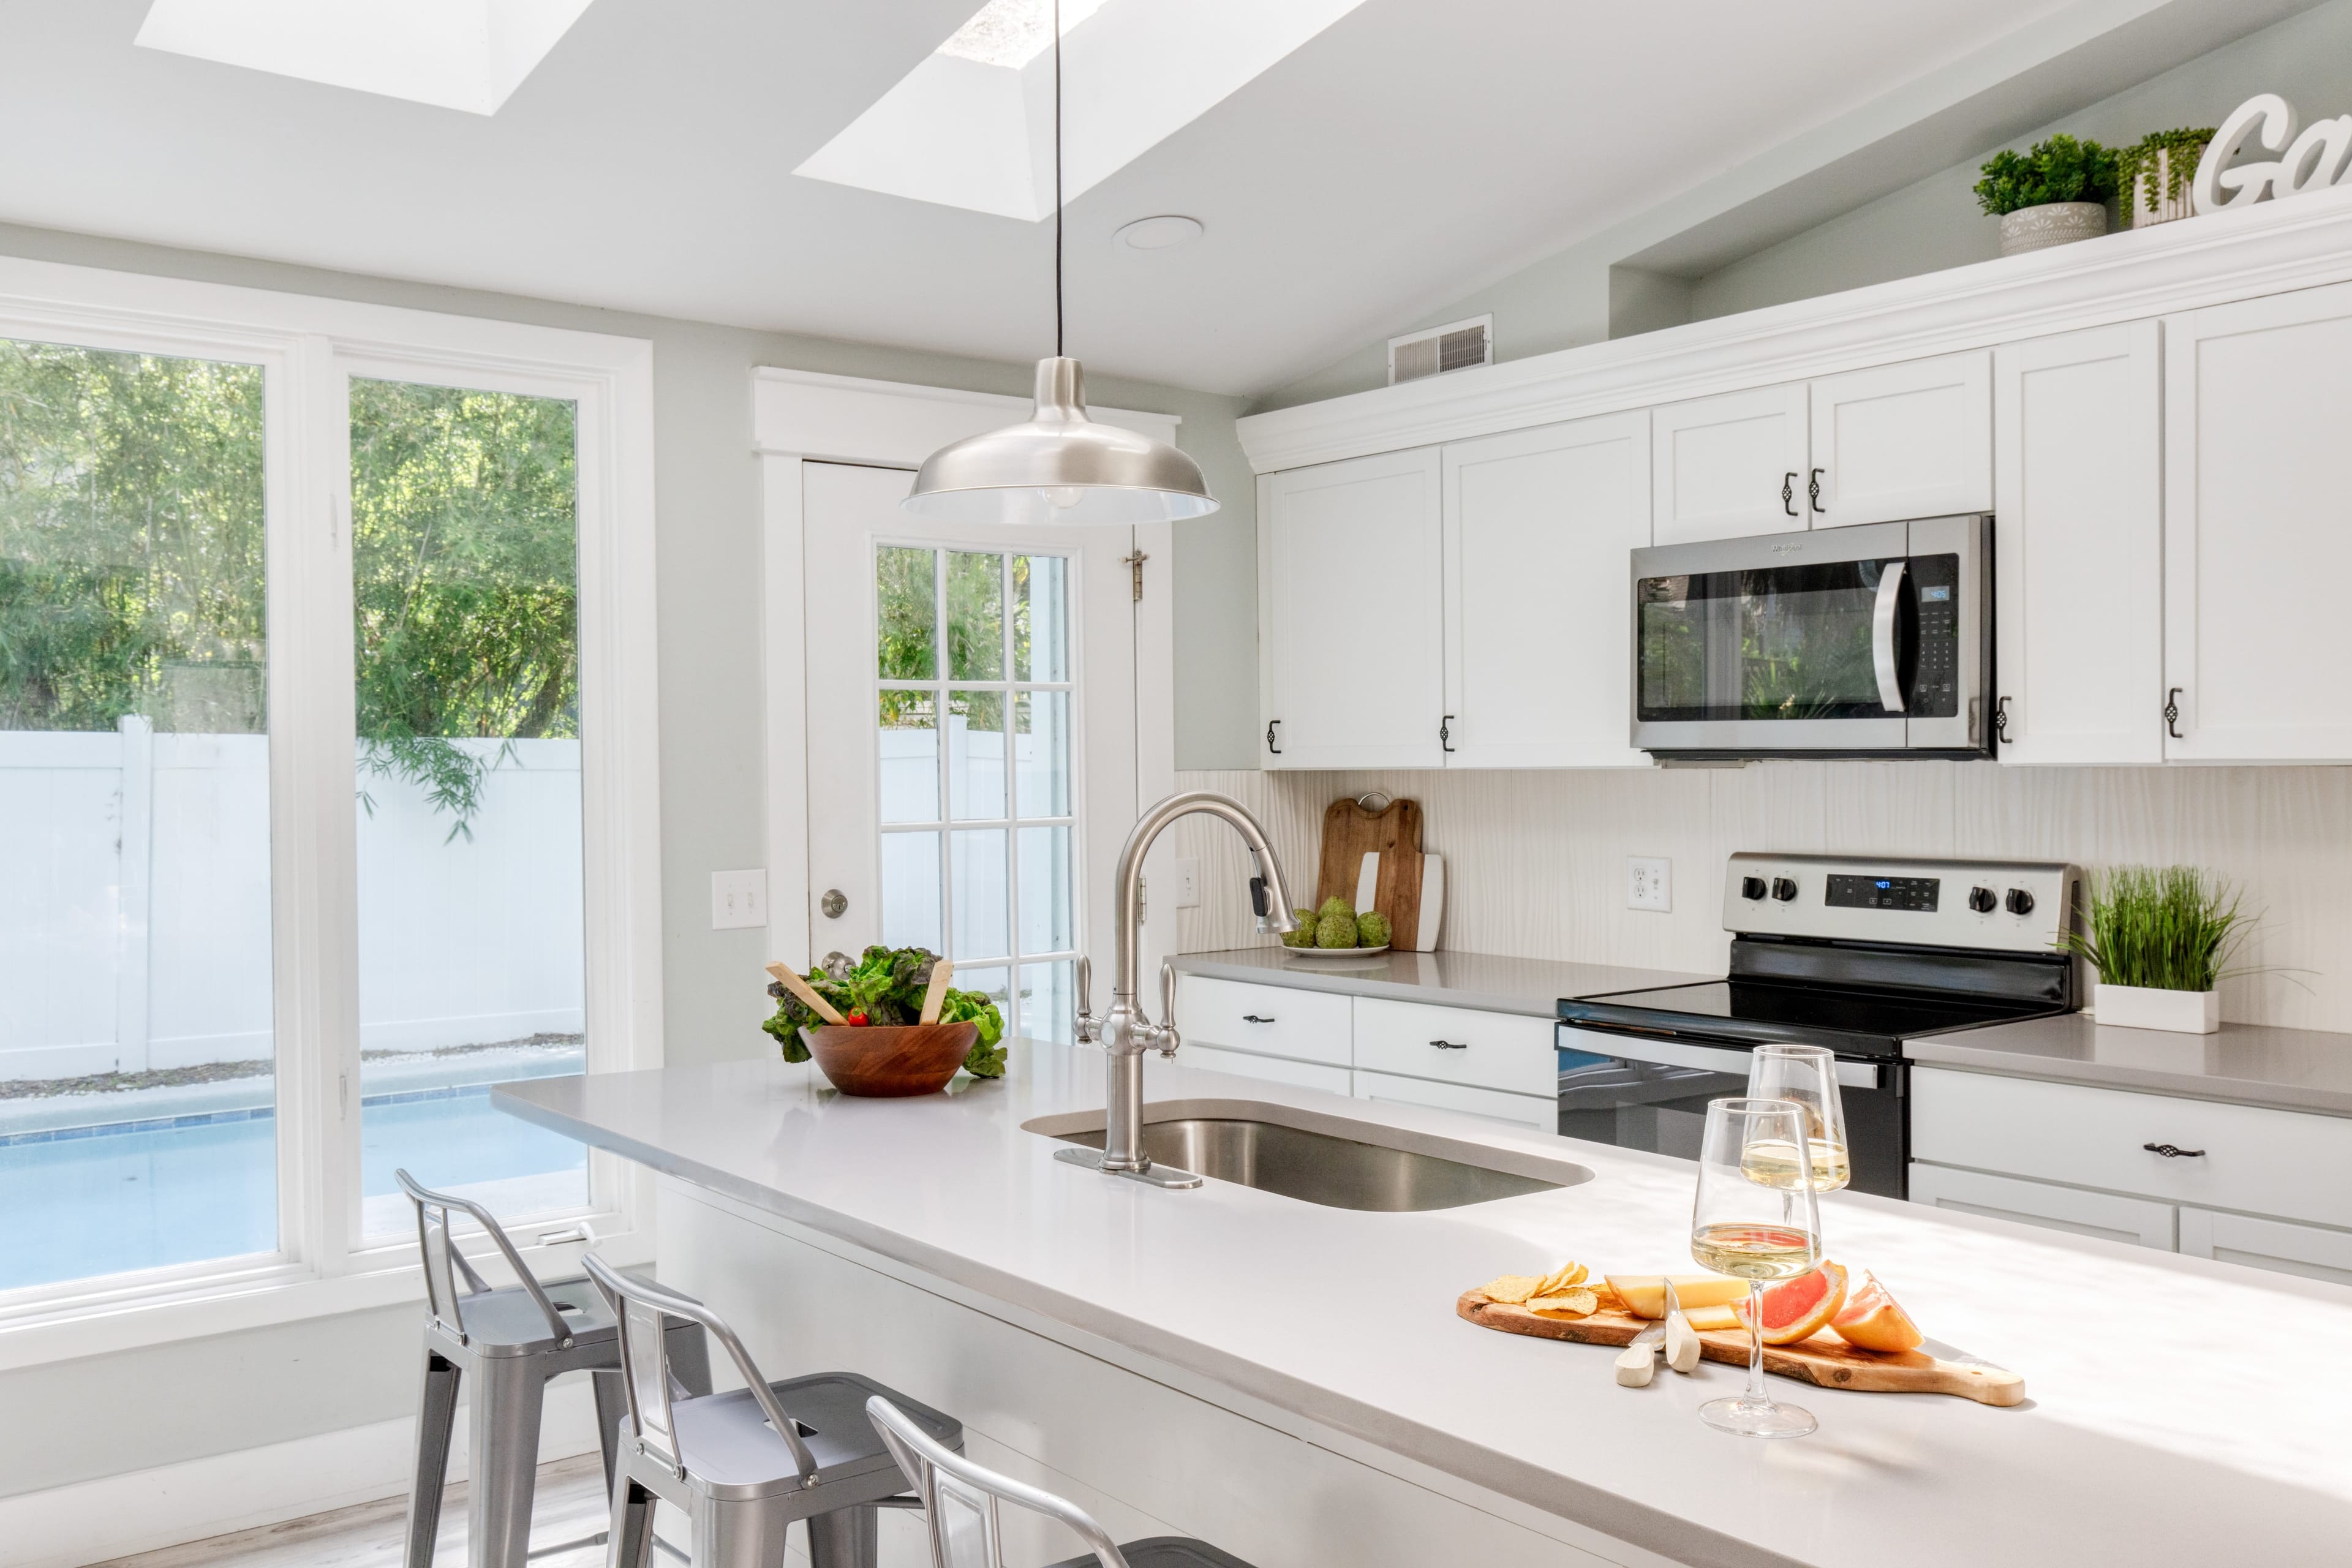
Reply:
[[[1559,1025],[1559,1135],[1698,1159],[1708,1100],[1748,1093],[1748,1046]],[[1853,1190],[1905,1197],[1910,1124],[1900,1063],[1837,1063]]]

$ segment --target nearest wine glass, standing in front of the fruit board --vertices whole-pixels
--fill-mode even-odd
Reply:
[[[1740,1436],[1804,1436],[1813,1418],[1776,1406],[1764,1392],[1764,1281],[1795,1279],[1820,1262],[1820,1211],[1813,1185],[1804,1107],[1792,1100],[1710,1100],[1698,1145],[1698,1197],[1691,1201],[1691,1258],[1717,1274],[1748,1281],[1748,1392],[1710,1399],[1698,1418]],[[1773,1152],[1792,1154],[1788,1164]],[[1752,1154],[1769,1154],[1773,1180],[1748,1175]]]

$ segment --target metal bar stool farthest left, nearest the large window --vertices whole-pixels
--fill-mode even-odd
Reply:
[[[487,1208],[419,1187],[407,1171],[393,1175],[416,1206],[416,1248],[426,1262],[426,1366],[416,1403],[407,1568],[433,1568],[461,1378],[473,1406],[466,1561],[470,1568],[524,1568],[532,1552],[532,1495],[539,1488],[539,1415],[548,1380],[574,1371],[593,1373],[597,1443],[604,1450],[604,1479],[612,1481],[616,1429],[626,1403],[621,1338],[612,1312],[586,1279],[539,1284]],[[494,1291],[475,1272],[449,1234],[452,1213],[473,1215],[515,1269],[517,1284]],[[710,1352],[694,1324],[670,1326],[668,1363],[677,1368],[689,1392],[710,1392]]]

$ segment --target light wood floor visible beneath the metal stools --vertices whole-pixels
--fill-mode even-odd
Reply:
[[[539,1467],[539,1502],[532,1509],[532,1568],[602,1568],[604,1547],[574,1544],[604,1530],[609,1497],[604,1465],[588,1453]],[[407,1542],[409,1502],[386,1497],[332,1514],[310,1514],[287,1523],[193,1540],[183,1547],[118,1556],[96,1568],[400,1568]],[[663,1521],[663,1533],[668,1533]],[[433,1552],[435,1568],[466,1563],[466,1486],[452,1486],[442,1500],[442,1528]],[[673,1568],[654,1554],[656,1568]]]

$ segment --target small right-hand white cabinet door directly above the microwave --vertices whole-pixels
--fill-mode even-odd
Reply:
[[[1992,355],[1879,364],[1811,383],[1797,503],[1816,529],[1992,508]]]

